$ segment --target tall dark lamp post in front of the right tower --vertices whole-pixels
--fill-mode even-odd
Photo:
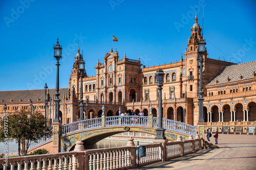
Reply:
[[[199,51],[198,51],[198,67],[199,67],[199,71],[200,71],[200,77],[199,77],[199,119],[198,119],[198,123],[204,123],[204,118],[203,118],[203,55],[205,53],[205,42],[203,37],[200,38],[200,41],[198,42],[199,45]]]

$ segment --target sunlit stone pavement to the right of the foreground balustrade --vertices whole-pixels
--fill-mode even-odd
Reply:
[[[210,141],[214,144],[213,136]],[[139,169],[256,169],[256,135],[219,134],[218,143],[218,149],[203,149]]]

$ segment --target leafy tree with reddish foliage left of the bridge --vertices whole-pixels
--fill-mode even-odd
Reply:
[[[37,141],[49,134],[49,127],[45,127],[45,116],[38,111],[31,113],[26,110],[17,110],[14,113],[8,113],[7,117],[8,123],[4,124],[2,121],[0,126],[0,141],[6,141],[6,138],[9,141],[14,139],[20,141],[22,144],[20,152],[23,156],[27,155],[32,141]],[[8,130],[8,133],[5,130]]]

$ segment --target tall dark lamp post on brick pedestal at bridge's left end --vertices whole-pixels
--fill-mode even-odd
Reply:
[[[53,45],[54,46],[54,45]],[[57,60],[57,74],[56,74],[56,93],[55,93],[55,99],[54,99],[54,103],[55,103],[55,115],[54,115],[54,123],[59,123],[59,59],[61,58],[61,47],[59,45],[59,39],[57,38],[57,44],[55,45],[54,48],[54,57]]]

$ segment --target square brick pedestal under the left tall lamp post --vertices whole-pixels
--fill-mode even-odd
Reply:
[[[52,133],[52,152],[51,153],[58,153],[59,152],[59,136],[60,136],[60,123],[52,123],[53,133]]]

